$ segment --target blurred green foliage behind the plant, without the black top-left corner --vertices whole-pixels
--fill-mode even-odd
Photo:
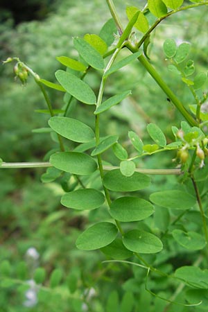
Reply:
[[[31,1],[36,2],[36,1]],[[37,1],[38,2],[38,1]],[[51,2],[51,9],[48,9]],[[137,6],[138,1],[115,1],[116,7],[123,21],[125,6]],[[139,6],[145,1],[139,1]],[[55,82],[54,72],[63,69],[55,60],[56,56],[76,56],[72,46],[73,36],[83,36],[85,33],[98,33],[110,13],[105,1],[41,1],[42,10],[47,13],[42,21],[26,21],[17,24],[12,14],[1,13],[3,23],[0,26],[2,47],[1,60],[8,56],[18,56],[24,60],[41,78]],[[32,3],[33,4],[33,3]],[[46,8],[46,10],[45,10]],[[40,10],[41,11],[41,10]],[[39,11],[38,19],[42,18]],[[6,12],[6,11],[5,11]],[[16,26],[14,26],[17,24]],[[174,74],[168,72],[162,45],[164,40],[173,38],[176,42],[191,42],[191,58],[197,64],[197,71],[207,71],[207,24],[208,17],[205,8],[189,10],[164,21],[154,33],[153,44],[148,53],[151,61],[164,80],[177,92],[184,103],[191,103],[191,93],[188,88]],[[125,52],[123,53],[125,56]],[[33,80],[29,79],[26,87],[14,82],[9,66],[0,69],[0,155],[6,162],[38,161],[44,158],[47,151],[54,148],[51,135],[32,132],[33,129],[46,127],[48,116],[34,113],[34,110],[45,109],[44,99]],[[101,77],[98,73],[89,73],[87,82],[98,91]],[[113,107],[103,120],[103,135],[120,135],[125,148],[131,150],[128,130],[134,130],[139,137],[148,143],[146,132],[147,123],[159,123],[166,132],[167,140],[173,139],[171,123],[180,127],[181,116],[173,110],[171,103],[157,87],[153,79],[139,64],[128,65],[114,75],[114,81],[107,85],[105,94],[112,96],[122,89],[131,89],[133,96],[125,99],[122,105]],[[62,94],[49,89],[49,96],[53,99],[53,106],[62,106]],[[77,112],[79,116],[77,116]],[[89,110],[83,106],[79,110],[71,111],[72,118],[89,121]],[[105,126],[107,124],[107,128]],[[90,125],[90,124],[89,124]],[[93,124],[91,125],[94,126]],[[53,139],[53,138],[52,138]],[[171,159],[175,153],[161,153],[159,156],[145,157],[139,162],[141,168],[174,168]],[[105,159],[116,164],[113,153],[107,153]],[[40,177],[42,169],[7,169],[0,171],[0,261],[1,275],[10,272],[17,279],[17,284],[1,284],[1,311],[116,311],[117,302],[121,302],[121,311],[164,311],[166,302],[153,297],[140,286],[140,280],[145,279],[146,272],[140,268],[129,267],[126,263],[101,263],[106,256],[101,252],[81,252],[75,247],[75,241],[85,224],[105,220],[105,210],[81,211],[76,214],[71,209],[60,205],[60,196],[64,193],[58,182],[42,184]],[[62,185],[68,187],[66,181]],[[150,193],[162,189],[170,189],[177,180],[173,176],[153,177],[148,191],[142,191],[144,198]],[[95,181],[96,183],[96,181]],[[67,184],[67,185],[66,185]],[[169,215],[162,209],[152,219],[152,226],[157,232],[158,227],[166,231]],[[194,214],[189,214],[190,230],[197,229]],[[185,222],[186,220],[184,220]],[[159,226],[158,226],[159,225]],[[145,229],[144,225],[144,229]],[[182,226],[182,225],[181,225]],[[195,260],[195,254],[184,252],[168,237],[169,254],[162,254],[161,269],[171,272],[181,265],[188,265]],[[29,248],[35,248],[32,252]],[[152,261],[155,256],[148,256]],[[164,261],[166,259],[166,263]],[[157,263],[159,266],[159,263]],[[44,268],[44,272],[36,271],[37,267]],[[35,286],[19,283],[19,280],[44,280],[44,286],[52,285],[51,290],[41,288],[37,292]],[[45,274],[45,277],[42,276]],[[56,275],[56,276],[55,276]],[[55,276],[55,277],[54,277]],[[55,281],[54,281],[55,280]],[[59,282],[60,281],[60,282]],[[168,283],[168,284],[167,284]],[[170,297],[175,287],[175,281],[162,277],[150,279],[150,287],[154,288],[162,297]],[[55,287],[58,284],[58,287]],[[54,287],[53,287],[54,286]],[[27,299],[28,289],[38,300]],[[190,293],[191,295],[191,293]],[[35,297],[36,298],[36,297]],[[33,297],[34,299],[34,297]],[[197,293],[196,293],[196,299]],[[180,294],[178,301],[182,301]],[[130,306],[132,302],[132,309]],[[153,305],[154,302],[154,305]],[[125,306],[128,305],[128,308]],[[105,309],[103,308],[105,306]],[[157,309],[156,309],[157,308]],[[175,307],[168,311],[173,312]],[[177,306],[177,311],[203,311],[198,308],[184,308]],[[205,309],[205,308],[204,308]]]

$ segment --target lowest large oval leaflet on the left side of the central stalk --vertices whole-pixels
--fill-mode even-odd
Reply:
[[[118,229],[110,222],[100,222],[92,225],[78,236],[76,246],[80,250],[96,250],[103,248],[116,238]]]

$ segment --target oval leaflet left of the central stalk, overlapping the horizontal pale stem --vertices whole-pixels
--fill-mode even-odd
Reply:
[[[50,162],[55,168],[75,175],[89,175],[97,169],[94,159],[84,153],[55,153],[51,155]]]

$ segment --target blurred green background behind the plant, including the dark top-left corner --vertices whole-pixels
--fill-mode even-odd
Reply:
[[[146,1],[114,2],[125,25],[127,23],[125,6],[143,8]],[[105,21],[110,19],[110,12],[103,0],[27,0],[23,3],[1,1],[0,59],[19,57],[41,78],[53,82],[55,82],[54,72],[62,68],[55,57],[77,56],[73,49],[73,36],[83,36],[85,33],[98,34]],[[191,92],[182,84],[180,78],[168,72],[162,44],[167,38],[173,38],[177,42],[191,42],[191,57],[197,64],[196,72],[206,71],[207,28],[208,15],[205,8],[180,13],[162,22],[153,33],[152,43],[148,48],[152,64],[187,107],[193,103]],[[123,56],[125,54],[123,51]],[[44,158],[46,153],[58,145],[53,138],[51,139],[50,134],[32,132],[33,129],[47,127],[49,119],[47,114],[34,112],[46,109],[40,90],[32,78],[28,79],[26,86],[21,86],[15,81],[12,64],[1,65],[0,75],[0,157],[5,162],[47,160],[47,157]],[[100,80],[101,76],[94,71],[86,78],[95,92],[98,92]],[[173,139],[171,125],[180,126],[181,116],[175,112],[165,94],[139,62],[115,73],[107,83],[104,96],[112,96],[122,89],[132,89],[132,96],[103,115],[101,135],[119,135],[119,141],[129,150],[130,155],[134,155],[135,152],[130,147],[128,139],[128,130],[134,130],[148,143],[146,125],[153,122],[164,130],[167,140],[171,142]],[[62,94],[51,89],[47,91],[53,107],[61,108]],[[91,113],[91,107],[73,105],[70,115],[94,127]],[[146,157],[138,162],[138,167],[174,168],[175,164],[172,162],[174,157],[175,154],[171,152]],[[118,165],[111,152],[106,153],[105,159]],[[130,275],[128,267],[124,266],[121,274],[121,268],[101,266],[100,263],[105,257],[100,252],[80,252],[76,250],[74,242],[80,229],[85,228],[87,222],[93,223],[94,220],[107,218],[105,211],[101,209],[99,213],[88,214],[84,211],[76,214],[62,207],[60,205],[60,196],[64,193],[62,187],[58,182],[42,184],[40,180],[42,173],[44,169],[0,170],[0,261],[8,260],[12,264],[12,272],[20,271],[22,275],[24,270],[21,266],[24,264],[21,261],[26,261],[26,252],[28,248],[33,247],[40,255],[35,266],[44,267],[47,276],[55,268],[60,268],[64,272],[63,282],[70,284],[68,279],[75,276],[80,284],[80,290],[96,288],[94,295],[96,308],[93,311],[103,311],[101,303],[106,302],[109,293],[115,287],[124,285],[123,288],[119,288],[121,292],[130,288],[127,284]],[[148,192],[157,191],[161,187],[168,188],[174,181],[175,177],[153,177],[153,184]],[[148,196],[148,193],[144,193],[144,196]],[[175,257],[174,252],[172,257]],[[26,279],[33,277],[32,267],[33,265],[26,267],[28,270],[25,274]],[[106,267],[108,270],[105,274],[103,271]],[[137,275],[139,276],[138,272]],[[53,295],[43,291],[40,293],[39,303],[31,307],[24,304],[23,286],[20,285],[18,288],[5,286],[2,289],[3,291],[0,291],[2,312],[87,311],[84,307],[80,308],[82,303],[80,300],[69,304],[70,298],[65,296],[64,287],[60,293]],[[141,294],[142,291],[140,289]],[[85,297],[87,295],[89,294]],[[150,302],[148,295],[144,297],[140,295],[139,298],[144,301],[145,296],[147,302]]]

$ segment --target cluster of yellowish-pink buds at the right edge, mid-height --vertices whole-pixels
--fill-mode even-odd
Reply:
[[[208,155],[207,137],[203,139],[194,137],[193,139],[186,140],[186,136],[182,129],[178,130],[177,137],[182,141],[182,148],[177,151],[177,159],[180,159],[181,164],[185,164],[189,158],[189,149],[196,149],[196,156],[200,159],[200,168],[205,165],[205,157]]]

